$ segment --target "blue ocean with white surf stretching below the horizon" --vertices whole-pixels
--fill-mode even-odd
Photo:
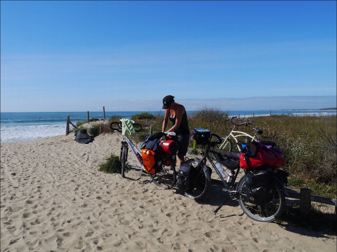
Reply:
[[[226,112],[226,111],[224,111]],[[326,110],[258,110],[258,111],[229,111],[232,116],[251,117],[272,115],[315,115],[329,116],[336,115],[336,111]],[[142,111],[115,111],[105,112],[105,118],[120,116],[121,118],[130,118],[132,115],[140,114]],[[150,112],[158,115],[159,111]],[[164,113],[163,111],[161,112]],[[187,111],[191,114],[193,111]],[[76,123],[78,120],[87,120],[87,112],[1,112],[0,118],[0,142],[32,141],[52,136],[65,134],[67,115],[70,115],[70,121]],[[104,118],[103,112],[89,112],[90,118]]]

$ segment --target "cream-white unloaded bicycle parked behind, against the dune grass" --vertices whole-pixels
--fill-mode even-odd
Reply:
[[[233,138],[235,140],[236,143],[238,143],[240,140],[240,138],[242,139],[244,137],[244,141],[245,142],[251,142],[253,140],[256,140],[257,135],[262,135],[263,134],[263,130],[261,129],[257,129],[257,128],[253,128],[253,130],[255,131],[254,136],[251,136],[245,132],[242,131],[236,131],[235,127],[237,126],[246,126],[248,127],[249,125],[253,125],[252,123],[249,122],[245,122],[245,123],[235,123],[233,121],[233,119],[237,118],[236,116],[232,116],[230,122],[232,124],[234,124],[234,127],[232,129],[232,131],[229,133],[228,136],[220,136],[221,138],[221,144],[215,145],[215,146],[211,146],[210,150],[215,151],[215,152],[219,152],[221,154],[225,154],[227,152],[232,152],[233,151],[233,144],[232,144],[232,140],[230,138]],[[239,138],[239,139],[238,139]],[[269,138],[269,137],[263,137],[263,138]],[[272,138],[277,138],[277,137],[272,137]],[[242,141],[241,141],[242,142]],[[237,145],[238,150],[235,150],[237,152],[241,152],[241,147],[239,145]],[[212,154],[213,158],[215,159],[215,156]]]

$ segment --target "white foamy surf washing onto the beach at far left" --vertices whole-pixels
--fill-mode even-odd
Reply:
[[[42,139],[65,134],[66,126],[57,125],[28,125],[28,126],[2,126],[0,127],[1,142],[16,142]]]

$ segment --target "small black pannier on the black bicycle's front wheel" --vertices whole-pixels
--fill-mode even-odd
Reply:
[[[190,192],[194,189],[195,168],[187,163],[180,166],[178,170],[178,181],[176,186],[183,192]]]

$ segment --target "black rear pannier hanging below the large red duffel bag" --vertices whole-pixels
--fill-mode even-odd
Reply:
[[[268,168],[248,170],[245,186],[248,202],[255,205],[265,205],[273,200],[274,173]]]

